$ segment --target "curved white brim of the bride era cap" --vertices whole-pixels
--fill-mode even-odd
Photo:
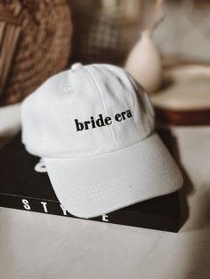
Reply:
[[[156,133],[108,154],[44,158],[44,162],[61,204],[80,218],[93,218],[182,187],[182,174]]]

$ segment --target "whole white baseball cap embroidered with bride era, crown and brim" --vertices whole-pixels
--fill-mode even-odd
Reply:
[[[71,214],[93,218],[182,187],[149,97],[124,69],[77,63],[23,101],[22,142]]]

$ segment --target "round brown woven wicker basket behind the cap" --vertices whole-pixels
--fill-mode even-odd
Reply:
[[[67,66],[72,23],[65,0],[0,3],[0,105],[23,100]]]

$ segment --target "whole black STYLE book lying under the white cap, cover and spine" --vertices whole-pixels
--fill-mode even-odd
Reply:
[[[170,142],[162,134],[164,137]],[[0,206],[76,218],[62,207],[47,172],[40,172],[40,158],[28,154],[20,134],[1,150],[0,167]],[[90,220],[177,232],[181,224],[179,193],[135,203]]]

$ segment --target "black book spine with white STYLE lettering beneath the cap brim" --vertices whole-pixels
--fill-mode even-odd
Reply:
[[[0,206],[23,211],[35,211],[45,214],[77,218],[66,211],[59,201],[36,199],[20,195],[0,194]],[[177,232],[179,227],[179,219],[171,219],[166,216],[158,217],[157,215],[149,215],[148,213],[129,211],[126,209],[114,211],[109,214],[103,214],[99,217],[88,220],[101,221],[105,223],[108,222],[130,227],[146,227],[172,232]]]

